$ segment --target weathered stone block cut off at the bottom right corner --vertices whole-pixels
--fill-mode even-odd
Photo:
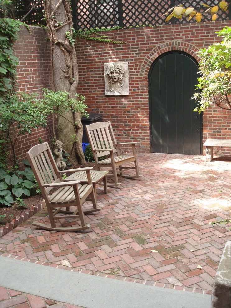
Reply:
[[[231,241],[224,246],[214,277],[211,308],[231,307]]]

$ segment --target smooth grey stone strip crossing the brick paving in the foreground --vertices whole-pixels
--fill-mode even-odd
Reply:
[[[210,295],[145,286],[0,257],[0,285],[87,308],[209,308]],[[1,304],[0,304],[1,306]]]

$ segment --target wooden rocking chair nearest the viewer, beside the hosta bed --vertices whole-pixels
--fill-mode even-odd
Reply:
[[[50,225],[44,223],[33,223],[33,226],[50,231],[64,232],[76,232],[90,228],[90,225],[87,225],[85,222],[84,214],[100,210],[100,208],[97,208],[96,196],[90,175],[92,167],[59,171],[47,142],[35,145],[26,153],[26,156],[45,199],[50,220]],[[61,177],[62,173],[81,170],[86,170],[87,172],[87,184],[86,181],[81,184],[78,179],[64,182]],[[54,192],[52,192],[53,189]],[[82,204],[86,201],[88,195],[91,196],[93,208],[83,211]],[[76,206],[76,210],[70,211],[70,207]],[[59,215],[59,213],[64,213],[64,215]],[[80,218],[81,226],[56,226],[55,220],[57,219],[60,220],[63,218],[75,217]]]

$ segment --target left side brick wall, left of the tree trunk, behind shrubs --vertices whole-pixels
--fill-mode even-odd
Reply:
[[[51,88],[50,43],[46,38],[45,30],[40,27],[30,26],[29,30],[24,26],[21,27],[19,38],[14,45],[15,55],[19,58],[19,65],[17,66],[19,91],[41,93],[42,88]],[[41,128],[34,129],[31,135],[26,134],[19,138],[23,159],[25,153],[39,143],[39,137],[50,143],[46,129]],[[18,149],[17,154],[19,153]]]

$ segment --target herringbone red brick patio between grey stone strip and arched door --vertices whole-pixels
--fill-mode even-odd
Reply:
[[[42,210],[0,239],[0,255],[106,278],[211,294],[231,224],[231,160],[202,156],[139,155],[143,175],[98,188],[101,211],[90,232],[31,226]],[[68,220],[68,225],[76,221]],[[198,265],[201,268],[198,268]]]

